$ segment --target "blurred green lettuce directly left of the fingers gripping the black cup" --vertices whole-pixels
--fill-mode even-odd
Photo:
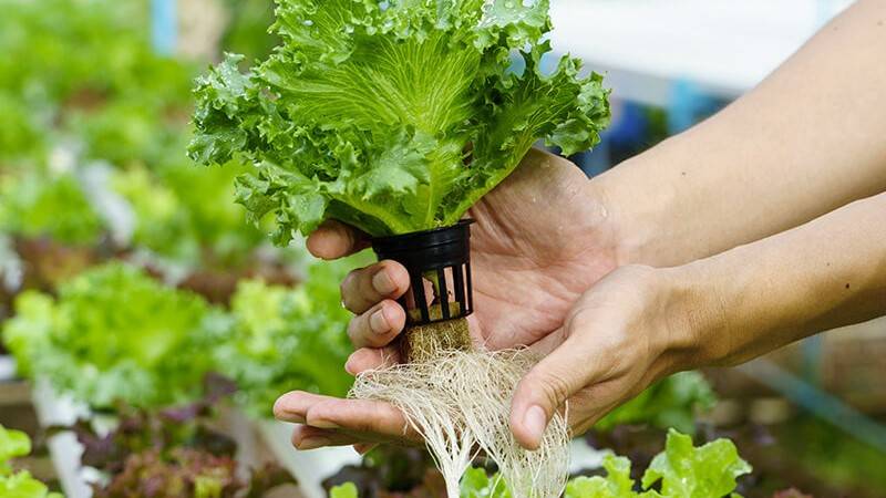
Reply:
[[[351,313],[338,282],[369,255],[313,263],[295,289],[261,280],[240,282],[231,300],[230,331],[215,346],[219,373],[237,383],[247,412],[270,417],[274,401],[292,390],[344,396],[353,377],[344,362],[353,347]]]

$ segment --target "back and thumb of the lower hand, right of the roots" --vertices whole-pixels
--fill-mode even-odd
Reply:
[[[700,336],[718,314],[696,281],[682,268],[624,266],[594,284],[549,336],[553,351],[514,392],[517,442],[537,448],[567,404],[573,433],[583,434],[656,381],[705,363]]]

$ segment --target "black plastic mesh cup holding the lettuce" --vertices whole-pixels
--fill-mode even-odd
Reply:
[[[409,271],[410,288],[400,299],[406,325],[464,318],[474,310],[471,286],[471,225],[456,225],[372,240],[379,260],[391,259]]]

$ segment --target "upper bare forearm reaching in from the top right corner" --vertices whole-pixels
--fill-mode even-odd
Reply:
[[[886,2],[861,1],[724,111],[595,178],[621,262],[680,264],[886,190]]]

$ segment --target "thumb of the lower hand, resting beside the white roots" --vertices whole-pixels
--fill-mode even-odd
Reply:
[[[566,401],[588,384],[588,352],[568,338],[521,380],[511,404],[511,430],[521,446],[538,449],[548,422]]]

